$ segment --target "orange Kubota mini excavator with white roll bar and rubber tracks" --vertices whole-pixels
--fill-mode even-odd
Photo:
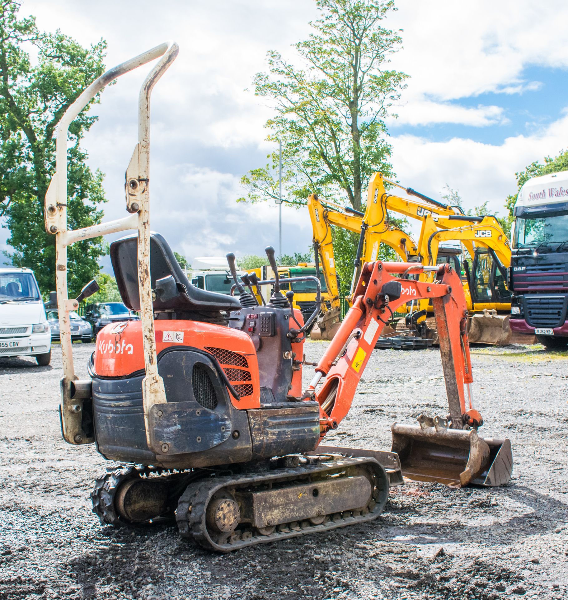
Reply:
[[[237,280],[234,256],[228,260],[238,299],[192,286],[167,241],[150,232],[150,92],[176,54],[175,43],[162,44],[81,94],[62,119],[58,168],[46,196],[46,229],[56,235],[62,434],[73,444],[96,443],[105,458],[120,463],[92,491],[101,522],[175,516],[183,536],[227,552],[377,518],[389,486],[403,481],[398,455],[321,442],[348,413],[386,317],[418,298],[434,305],[450,415],[449,421],[423,418],[416,427],[394,425],[395,448],[407,462],[413,457],[410,470],[433,479],[442,473],[455,485],[507,481],[510,449],[507,455],[504,443],[479,438],[482,418],[471,394],[466,406],[473,380],[466,302],[451,266],[366,263],[352,308],[303,389],[309,323],[292,308],[293,292],[280,292],[274,250],[267,248],[274,280],[260,282],[273,284],[274,292],[258,305]],[[140,92],[139,139],[126,170],[130,215],[68,230],[67,127],[104,85],[152,59],[159,61]],[[89,379],[78,380],[69,313],[97,286],[91,282],[78,298],[67,297],[67,246],[125,229],[136,233],[111,244],[111,262],[123,302],[141,320],[105,326]],[[408,278],[424,269],[435,271],[435,281]]]

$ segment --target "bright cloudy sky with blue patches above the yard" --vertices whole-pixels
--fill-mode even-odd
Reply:
[[[446,186],[466,208],[503,215],[515,172],[568,149],[568,3],[548,0],[397,2],[384,26],[400,29],[391,67],[410,76],[388,119],[398,181],[440,199]],[[318,16],[314,0],[23,0],[44,31],[84,46],[104,38],[112,67],[165,40],[180,53],[152,95],[151,226],[191,262],[277,248],[273,202],[237,204],[241,176],[265,164],[270,107],[252,92],[269,49],[294,59]],[[125,215],[124,172],[137,141],[144,67],[104,91],[83,140],[105,173],[105,219]],[[411,224],[411,232],[417,232]],[[307,209],[284,206],[283,253],[312,242]],[[117,236],[114,236],[116,238]],[[0,230],[0,250],[7,249]],[[113,238],[110,238],[113,239]],[[8,248],[9,250],[9,248]],[[105,270],[108,259],[102,260]]]

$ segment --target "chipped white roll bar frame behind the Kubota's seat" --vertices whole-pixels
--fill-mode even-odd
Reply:
[[[146,377],[143,380],[144,423],[146,437],[150,443],[148,410],[155,403],[165,402],[164,381],[158,374],[156,338],[152,309],[152,282],[150,280],[150,95],[156,82],[176,59],[179,46],[168,41],[144,52],[117,67],[109,69],[67,109],[59,122],[56,140],[56,172],[46,194],[46,231],[55,234],[56,245],[56,289],[59,307],[59,329],[63,355],[64,376],[61,380],[62,433],[72,444],[93,442],[81,427],[82,401],[72,398],[71,382],[76,380],[72,356],[71,325],[69,312],[78,308],[75,299],[68,298],[67,290],[67,246],[83,239],[95,238],[108,233],[127,229],[138,230],[138,281],[140,287],[140,313],[143,331],[144,362]],[[138,96],[138,143],[126,169],[126,210],[128,217],[108,221],[83,229],[67,229],[67,134],[73,119],[108,83],[147,62],[162,57],[147,75]]]

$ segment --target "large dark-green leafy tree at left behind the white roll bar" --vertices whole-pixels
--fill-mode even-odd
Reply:
[[[6,253],[34,269],[41,290],[55,289],[55,236],[44,229],[43,205],[55,173],[55,134],[65,110],[104,71],[106,43],[83,48],[61,31],[40,32],[34,17],[18,19],[20,3],[0,0],[0,217],[10,230]],[[32,61],[29,52],[37,53]],[[89,104],[98,102],[98,97]],[[87,107],[88,109],[88,107]],[[103,174],[86,165],[80,141],[96,121],[85,109],[69,130],[68,226],[100,223]],[[68,248],[70,295],[99,272],[102,238]]]

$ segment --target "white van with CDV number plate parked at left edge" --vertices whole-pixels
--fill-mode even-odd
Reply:
[[[34,272],[0,268],[0,358],[35,356],[45,367],[51,347],[52,332]]]

